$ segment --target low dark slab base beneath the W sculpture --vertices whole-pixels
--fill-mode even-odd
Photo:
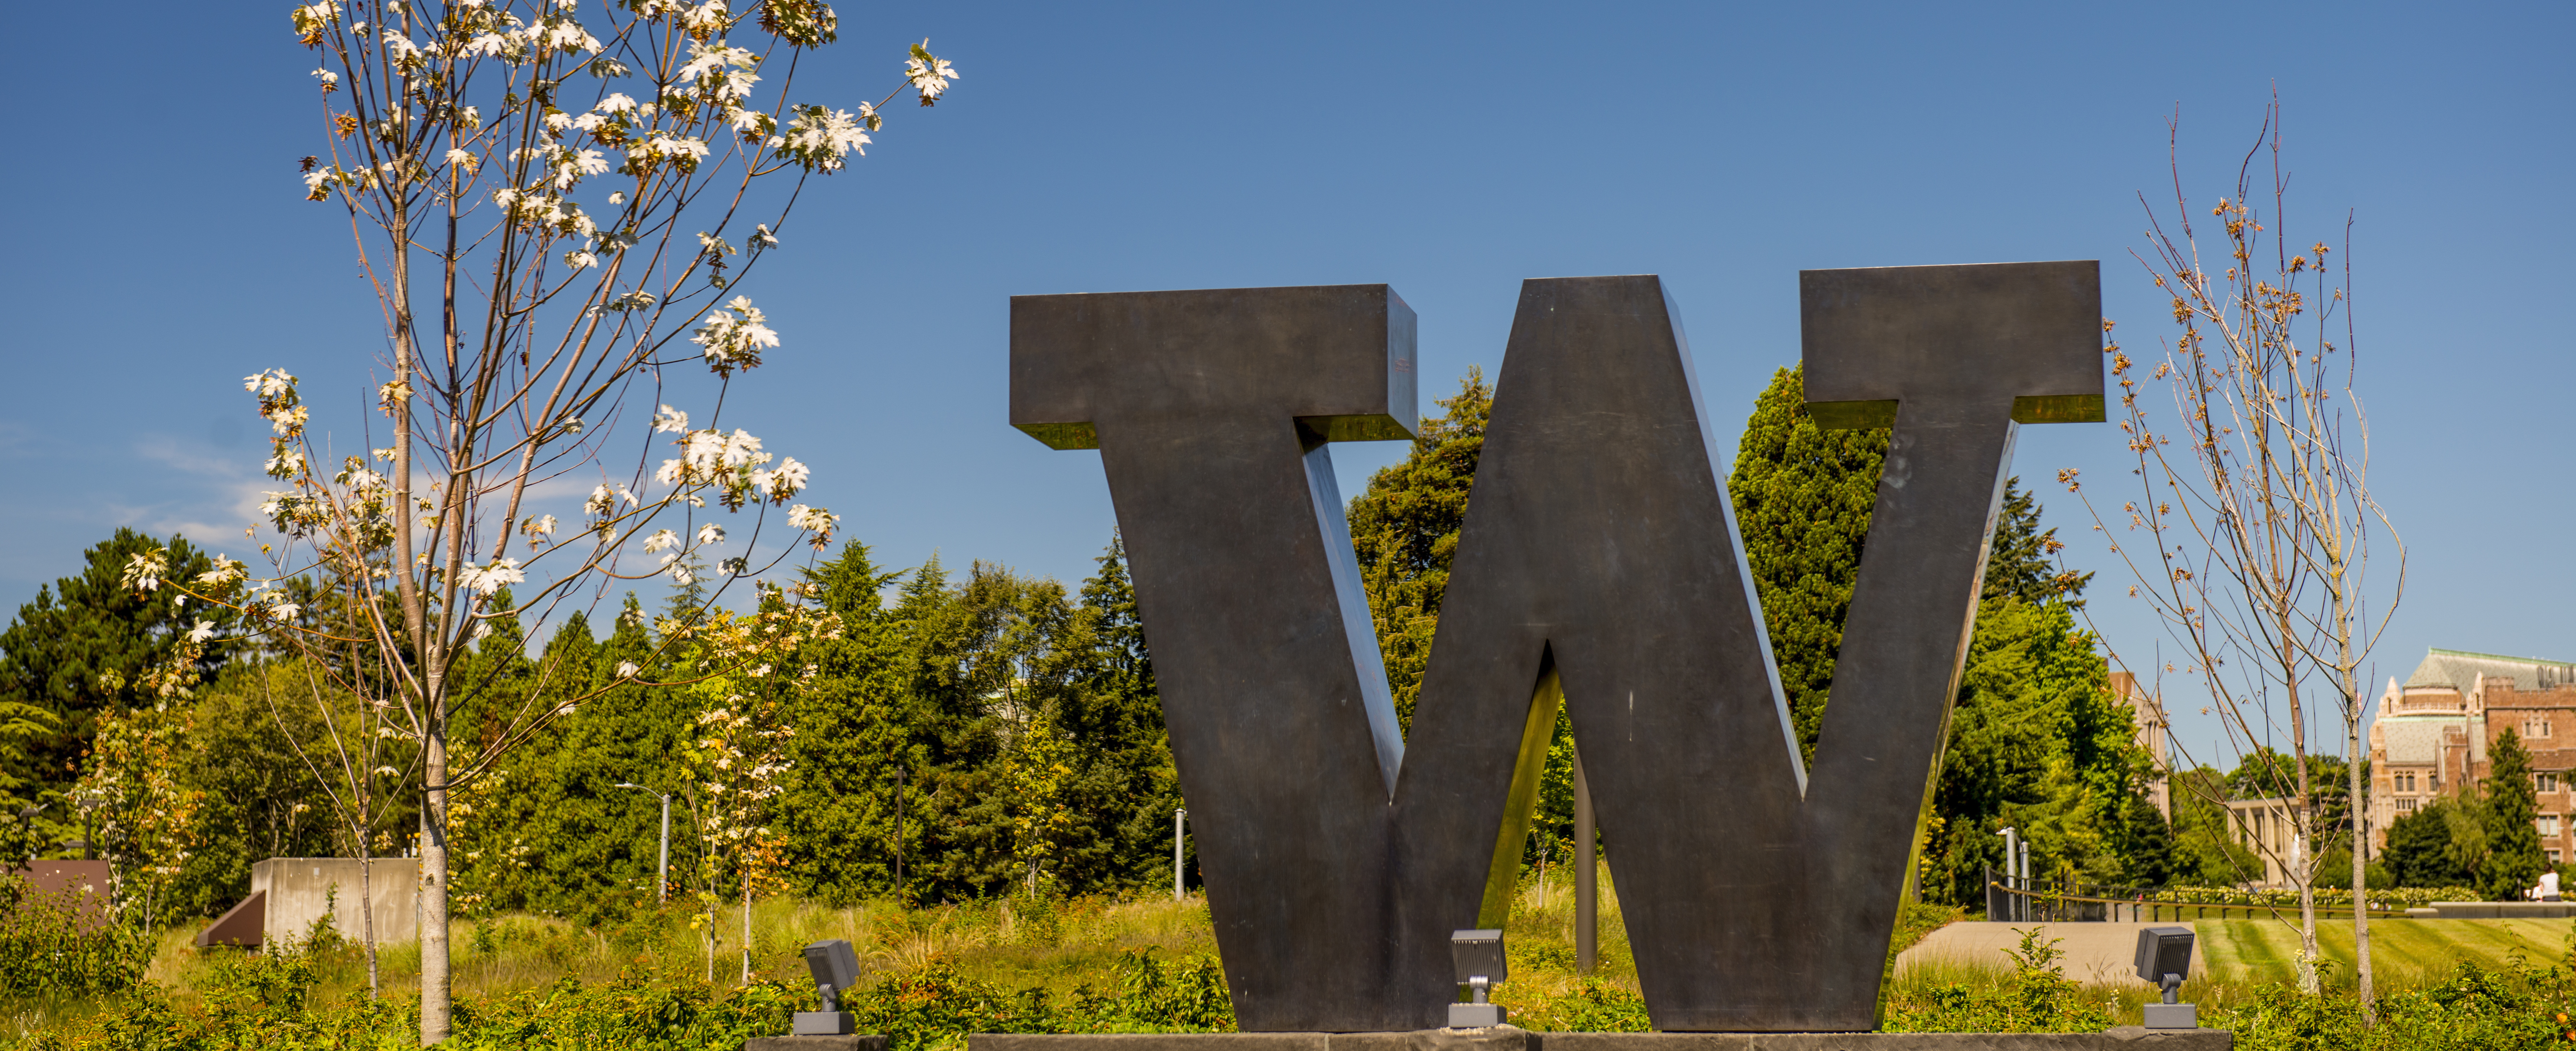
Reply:
[[[1530,1033],[1497,1025],[1422,1033],[974,1033],[966,1038],[969,1051],[2228,1051],[2231,1046],[2226,1030],[2138,1025],[2107,1033]]]

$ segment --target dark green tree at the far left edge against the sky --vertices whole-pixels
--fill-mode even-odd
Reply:
[[[178,636],[211,621],[234,623],[222,605],[191,603],[175,587],[137,595],[121,582],[126,564],[155,546],[170,549],[170,580],[193,580],[214,562],[170,536],[167,544],[131,528],[85,551],[77,577],[54,580],[0,631],[0,739],[18,739],[15,760],[0,747],[0,793],[52,799],[72,786],[80,755],[95,734],[98,714],[144,703],[144,672],[170,659]],[[198,675],[211,680],[227,647],[206,647]],[[23,708],[21,708],[23,706]],[[8,788],[18,783],[21,788]],[[52,806],[46,819],[54,819]],[[18,806],[10,806],[15,814]],[[59,824],[70,832],[77,824]]]

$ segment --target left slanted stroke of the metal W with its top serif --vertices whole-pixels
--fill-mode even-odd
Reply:
[[[1239,1025],[1422,1028],[1450,999],[1448,933],[1476,917],[1391,997],[1404,742],[1324,443],[1412,428],[1412,309],[1327,286],[1010,312],[1010,422],[1097,435]]]

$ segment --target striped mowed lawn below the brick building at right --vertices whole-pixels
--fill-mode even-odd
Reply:
[[[2192,927],[2215,981],[2295,979],[2295,922],[2200,920]],[[2380,989],[2439,981],[2458,961],[2496,966],[2522,956],[2555,963],[2568,956],[2568,927],[2571,920],[2380,920],[2370,925],[2370,963]],[[2331,981],[2352,987],[2352,920],[2318,925],[2316,943],[2334,963]]]

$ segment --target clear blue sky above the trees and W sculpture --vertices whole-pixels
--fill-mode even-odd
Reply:
[[[0,173],[0,608],[116,526],[240,546],[260,489],[240,376],[355,420],[381,348],[337,209],[301,201],[312,57],[286,3],[13,15]],[[1793,363],[1801,268],[2128,258],[2208,206],[2272,85],[2300,240],[2357,216],[2378,492],[2411,544],[2380,675],[2424,647],[2576,659],[2561,443],[2576,64],[2527,5],[842,5],[799,95],[842,106],[930,36],[963,77],[806,193],[747,291],[786,345],[742,420],[814,466],[884,562],[933,549],[1079,580],[1095,453],[1005,425],[1007,296],[1386,281],[1422,317],[1425,410],[1502,358],[1520,278],[1662,273],[1728,430]],[[75,44],[77,41],[77,44]],[[2300,232],[2303,229],[2303,232]],[[337,394],[332,394],[337,386]],[[1731,438],[1728,438],[1731,440]],[[1340,446],[1345,492],[1401,456]],[[2110,477],[2117,430],[2025,428],[2017,469]],[[2115,647],[2154,626],[2043,487]],[[2184,701],[2184,698],[2177,698]],[[2184,711],[2182,739],[2215,726]]]

